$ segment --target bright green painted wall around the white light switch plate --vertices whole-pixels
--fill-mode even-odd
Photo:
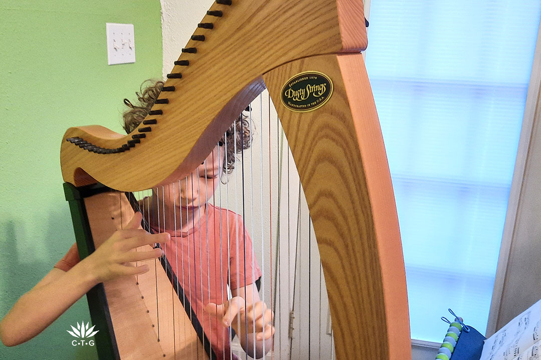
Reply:
[[[136,63],[107,65],[105,23],[134,24]],[[74,242],[62,191],[60,144],[69,126],[122,131],[122,99],[161,77],[159,0],[0,0],[0,316]],[[39,306],[39,304],[36,304]],[[0,358],[96,358],[66,332],[90,321],[83,298]]]

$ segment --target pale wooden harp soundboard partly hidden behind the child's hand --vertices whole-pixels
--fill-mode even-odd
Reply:
[[[96,248],[134,214],[126,196],[118,192],[94,195],[84,203]],[[137,248],[143,250],[150,246]],[[208,359],[161,264],[137,263],[143,264],[150,269],[146,274],[104,283],[121,359]]]

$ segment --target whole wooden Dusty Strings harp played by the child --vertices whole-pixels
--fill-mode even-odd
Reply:
[[[266,88],[311,218],[306,232],[315,235],[311,242],[316,249],[309,251],[318,254],[320,277],[325,279],[332,356],[409,358],[398,218],[360,54],[366,45],[360,0],[216,0],[175,61],[156,104],[134,131],[121,135],[101,126],[78,126],[65,132],[62,175],[81,238],[80,256],[88,256],[126,224],[133,213],[130,200],[141,201],[147,189],[161,194],[170,184],[181,186],[179,179],[184,181],[204,163],[234,119]],[[260,109],[262,115],[262,105]],[[102,185],[114,192],[101,193]],[[288,231],[274,245],[295,246],[290,235]],[[272,276],[275,286],[275,273],[283,265],[272,261],[271,292]],[[101,330],[96,335],[101,336],[96,338],[100,358],[220,358],[209,345],[212,339],[204,324],[194,321],[197,310],[175,283],[179,274],[171,271],[171,262],[166,251],[162,264],[150,266],[145,276],[101,284],[89,292],[93,323]],[[142,285],[146,282],[147,288]],[[277,314],[275,322],[293,321],[289,310]],[[325,317],[319,314],[320,324]],[[312,349],[302,352],[303,345],[299,356],[292,354],[291,341],[289,352],[277,350],[276,338],[287,342],[288,335],[287,330],[279,334],[281,325],[275,323],[275,328],[271,351],[276,358],[311,357]],[[318,341],[310,334],[308,346]]]

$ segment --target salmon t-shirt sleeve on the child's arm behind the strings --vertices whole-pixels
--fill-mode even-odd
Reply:
[[[258,258],[252,248],[252,238],[242,218],[236,214],[229,219],[229,266],[231,289],[252,284],[261,277]]]

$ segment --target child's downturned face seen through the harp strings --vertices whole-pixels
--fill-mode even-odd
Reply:
[[[214,195],[220,184],[220,175],[223,170],[225,147],[216,146],[206,160],[197,168],[174,184],[166,186],[162,194],[159,189],[159,202],[165,202],[168,211],[193,211],[203,206]]]

